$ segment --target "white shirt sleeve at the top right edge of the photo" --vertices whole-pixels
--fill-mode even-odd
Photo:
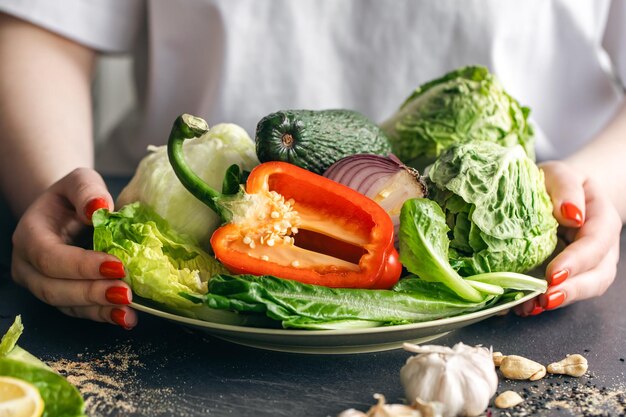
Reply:
[[[622,88],[626,88],[626,0],[611,2],[602,44]]]

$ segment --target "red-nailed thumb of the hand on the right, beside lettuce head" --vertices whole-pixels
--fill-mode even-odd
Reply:
[[[562,162],[542,164],[546,191],[550,195],[553,214],[559,224],[581,227],[585,221],[583,178]]]

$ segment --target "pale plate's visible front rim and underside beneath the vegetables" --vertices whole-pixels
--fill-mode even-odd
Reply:
[[[147,300],[135,300],[131,306],[212,336],[240,345],[282,352],[345,354],[380,352],[398,349],[402,343],[424,343],[446,333],[492,317],[523,303],[540,293],[528,293],[519,300],[498,304],[485,310],[446,319],[397,326],[345,330],[287,330],[227,324],[232,313],[216,311],[215,321],[183,317],[158,308]],[[220,316],[222,314],[222,316]]]

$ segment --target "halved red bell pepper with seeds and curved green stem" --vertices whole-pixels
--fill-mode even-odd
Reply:
[[[393,224],[377,203],[285,162],[258,165],[245,192],[219,193],[189,169],[182,153],[185,139],[207,130],[200,118],[178,117],[168,155],[181,183],[222,217],[211,246],[231,272],[336,288],[390,288],[398,281]]]

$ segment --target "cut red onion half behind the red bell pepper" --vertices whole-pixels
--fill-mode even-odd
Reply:
[[[427,194],[419,172],[391,154],[351,155],[331,165],[324,176],[366,195],[385,209],[393,221],[396,246],[402,205],[410,198]]]

